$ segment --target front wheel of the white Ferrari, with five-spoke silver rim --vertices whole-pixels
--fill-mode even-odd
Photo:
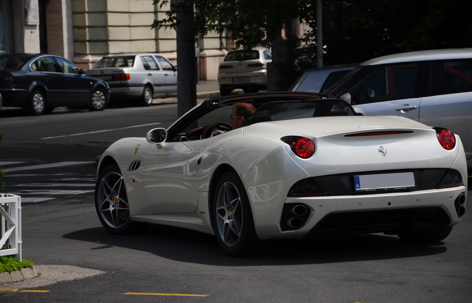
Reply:
[[[147,225],[131,221],[125,182],[116,164],[105,167],[97,178],[95,209],[101,225],[112,234],[132,234]]]

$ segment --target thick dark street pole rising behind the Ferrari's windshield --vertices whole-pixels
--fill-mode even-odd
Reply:
[[[177,18],[177,117],[197,104],[195,34],[193,1],[186,1],[183,10],[176,10]],[[192,3],[189,3],[192,2]]]

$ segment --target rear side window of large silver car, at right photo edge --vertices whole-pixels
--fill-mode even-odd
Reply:
[[[472,60],[431,62],[431,95],[472,91]]]

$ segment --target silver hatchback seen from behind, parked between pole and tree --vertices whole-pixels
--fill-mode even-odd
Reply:
[[[235,88],[242,88],[246,94],[267,89],[269,62],[272,53],[265,48],[228,52],[218,68],[219,92],[225,96]]]

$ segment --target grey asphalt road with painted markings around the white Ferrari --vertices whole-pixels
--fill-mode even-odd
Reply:
[[[169,126],[176,108],[160,104],[40,117],[0,113],[0,166],[6,172],[1,180],[4,192],[23,200],[23,257],[105,272],[40,288],[49,292],[0,291],[0,302],[471,302],[467,212],[434,245],[370,234],[277,242],[268,254],[251,258],[228,257],[214,236],[180,228],[151,225],[132,236],[107,233],[93,205],[95,157],[117,139]],[[468,203],[471,197],[469,190]]]

